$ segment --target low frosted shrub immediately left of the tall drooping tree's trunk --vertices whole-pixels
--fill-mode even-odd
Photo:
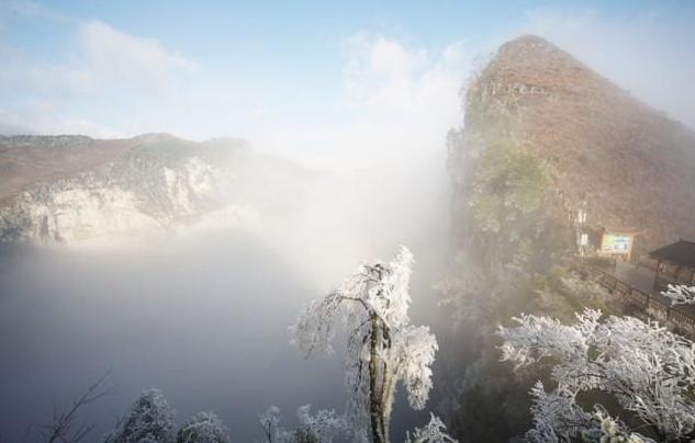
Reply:
[[[311,405],[296,409],[299,428],[292,431],[280,428],[280,408],[271,406],[260,414],[260,427],[267,443],[330,443],[347,430],[343,417],[334,410],[321,409],[311,413]]]

